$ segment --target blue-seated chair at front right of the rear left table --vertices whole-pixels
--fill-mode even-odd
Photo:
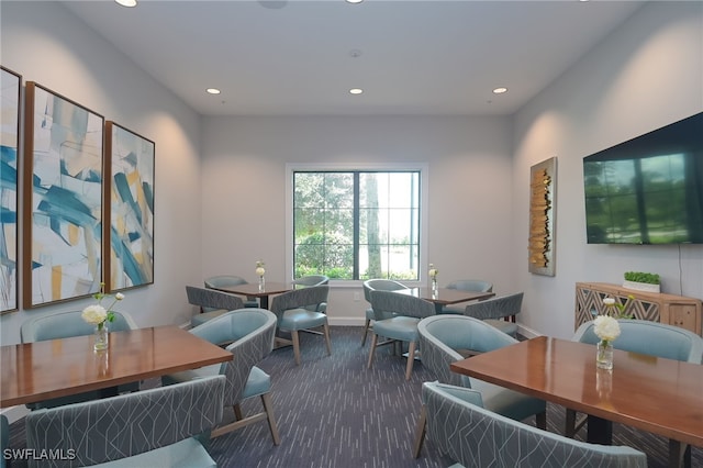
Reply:
[[[278,330],[289,332],[291,335],[291,339],[286,339],[280,335],[276,339],[279,343],[293,345],[293,356],[298,366],[301,361],[300,332],[324,335],[327,356],[332,355],[327,315],[316,310],[319,304],[327,302],[328,293],[328,285],[311,286],[283,292],[274,297],[271,301],[271,312],[278,319]],[[317,328],[322,328],[322,333]]]

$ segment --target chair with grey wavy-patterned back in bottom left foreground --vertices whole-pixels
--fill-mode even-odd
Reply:
[[[225,378],[213,376],[102,400],[33,411],[26,447],[75,459],[30,467],[216,467],[197,437],[222,420]]]

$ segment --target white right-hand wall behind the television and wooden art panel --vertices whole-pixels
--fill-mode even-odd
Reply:
[[[574,283],[622,283],[628,270],[662,277],[662,291],[703,298],[703,245],[588,245],[582,158],[703,110],[703,3],[643,9],[515,116],[513,266],[526,291],[522,321],[573,333]],[[527,272],[529,167],[558,158],[557,275]]]

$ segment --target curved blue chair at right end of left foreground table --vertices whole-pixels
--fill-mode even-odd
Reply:
[[[213,430],[212,437],[266,419],[274,444],[279,445],[280,437],[270,395],[271,378],[256,366],[274,348],[276,315],[265,309],[244,308],[209,320],[189,332],[213,344],[231,343],[226,349],[234,355],[233,360],[164,376],[163,385],[168,386],[212,375],[225,376],[223,404],[233,408],[235,421]],[[261,398],[265,411],[244,416],[241,403],[254,397]]]

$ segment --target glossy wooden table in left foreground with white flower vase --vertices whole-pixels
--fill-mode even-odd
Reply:
[[[85,335],[1,346],[0,408],[115,388],[233,358],[177,326],[110,333],[102,352],[93,350],[93,339]]]

